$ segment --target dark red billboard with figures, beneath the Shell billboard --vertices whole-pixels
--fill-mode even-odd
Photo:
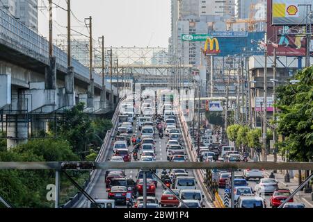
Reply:
[[[267,11],[271,12],[271,0],[267,1],[267,7]],[[305,33],[304,26],[271,26],[271,13],[268,13],[267,36],[269,41],[278,44],[277,56],[305,56],[307,45]],[[268,44],[267,49],[268,56],[273,56],[274,47],[272,44]]]

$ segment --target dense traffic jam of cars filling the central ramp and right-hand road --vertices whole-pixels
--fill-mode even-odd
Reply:
[[[182,126],[177,119],[177,111],[172,99],[168,101],[165,97],[158,91],[139,98],[133,94],[127,95],[120,108],[118,128],[115,130],[109,162],[190,161],[182,136]],[[140,106],[136,105],[138,100],[141,101]],[[158,102],[161,104],[157,104]],[[193,146],[198,153],[198,162],[252,161],[248,154],[239,153],[234,146],[221,144],[218,133],[214,134],[210,129],[200,128],[198,146],[198,131],[192,132],[192,128],[189,130],[195,141]],[[97,205],[89,203],[89,207],[143,208],[144,189],[147,194],[147,208],[216,207],[207,198],[209,192],[200,185],[200,180],[193,170],[147,171],[145,187],[143,174],[141,170],[106,170],[100,178],[103,186],[97,187],[93,194],[96,196]],[[232,195],[234,207],[237,208],[274,208],[280,206],[291,195],[289,189],[279,187],[273,174],[267,178],[262,169],[236,171],[234,194],[230,171],[211,170],[211,175],[218,186],[218,195],[224,201],[223,207],[231,207]],[[295,203],[294,198],[284,205],[284,208],[304,207],[303,203]]]

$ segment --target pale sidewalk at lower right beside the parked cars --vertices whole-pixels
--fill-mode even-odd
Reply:
[[[273,160],[274,160],[273,155],[267,156],[268,162],[273,162]],[[280,156],[278,156],[278,162],[280,161],[282,160],[280,159]],[[268,177],[270,176],[271,171],[266,171],[265,174]],[[279,187],[290,189],[291,192],[293,192],[296,188],[298,188],[297,176],[298,176],[298,172],[295,172],[294,178],[290,178],[290,182],[284,182],[284,174],[280,173],[280,171],[277,171],[277,173],[275,173],[275,179],[278,180]],[[305,194],[303,191],[298,191],[296,196],[294,196],[294,201],[304,203],[305,207],[307,208],[313,208],[312,194]]]

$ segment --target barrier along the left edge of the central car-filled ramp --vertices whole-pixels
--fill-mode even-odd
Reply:
[[[118,125],[118,114],[120,112],[120,110],[118,109],[120,107],[120,103],[122,103],[122,100],[120,100],[120,102],[118,103],[118,106],[113,114],[113,117],[111,119],[111,122],[113,123],[113,128],[111,128],[111,130],[108,130],[106,132],[106,136],[104,137],[102,146],[100,148],[100,151],[95,159],[95,162],[103,162],[104,160],[106,160],[107,154],[109,152],[108,151],[108,147],[111,145],[112,142],[112,138],[114,136],[114,132],[115,132],[115,128]],[[99,170],[94,169],[92,171],[90,171],[89,173],[89,177],[88,180],[86,180],[86,182],[83,185],[83,190],[86,190],[90,187],[90,184],[92,184],[95,181],[95,178],[97,178]],[[83,196],[83,194],[79,191],[77,192],[77,194],[73,197],[70,198],[69,201],[67,201],[67,203],[65,203],[65,205],[63,205],[63,208],[72,208],[74,205],[76,205],[79,202],[79,199]]]

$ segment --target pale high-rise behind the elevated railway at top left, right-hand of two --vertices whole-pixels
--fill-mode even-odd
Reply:
[[[38,0],[16,0],[15,17],[20,22],[38,32]]]

